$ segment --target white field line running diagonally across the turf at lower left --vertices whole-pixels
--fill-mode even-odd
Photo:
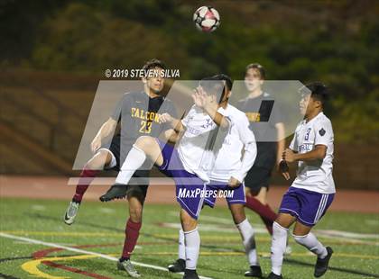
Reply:
[[[67,247],[67,246],[56,244],[56,243],[45,242],[45,241],[41,241],[41,240],[37,240],[37,239],[32,239],[32,238],[17,237],[17,236],[11,235],[11,234],[3,233],[3,232],[0,232],[0,237],[11,238],[11,239],[15,239],[15,240],[19,240],[19,241],[24,241],[24,242],[27,242],[27,243],[32,243],[32,244],[37,244],[37,245],[43,245],[43,246],[47,246],[47,247],[61,248],[61,249],[65,249],[65,250],[68,250],[68,251],[71,251],[71,252],[76,252],[76,253],[79,253],[79,254],[93,255],[93,256],[105,258],[107,260],[114,261],[114,262],[118,261],[118,258],[116,258],[116,257],[110,257],[110,256],[107,256],[107,255],[104,255],[104,254],[101,254],[101,253],[87,251],[87,250],[83,250],[83,249],[79,249],[79,248],[75,248],[75,247]],[[156,270],[162,270],[162,271],[169,272],[167,270],[167,268],[162,267],[162,266],[153,266],[153,265],[143,264],[143,263],[134,262],[134,261],[132,263],[133,263],[134,266],[143,266],[143,267],[147,267],[147,268],[152,268],[152,269],[156,269]],[[181,273],[181,275],[183,275],[183,273]],[[205,276],[199,276],[199,278],[201,278],[201,279],[212,279],[210,277],[205,277]]]

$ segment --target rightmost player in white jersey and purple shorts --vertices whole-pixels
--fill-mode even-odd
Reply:
[[[307,89],[308,88],[308,89]],[[289,180],[286,162],[298,162],[297,176],[284,194],[278,218],[273,222],[271,247],[272,273],[269,279],[282,278],[282,261],[288,229],[293,223],[293,238],[317,255],[314,276],[327,272],[331,247],[324,247],[310,229],[325,214],[336,193],[333,176],[333,129],[322,112],[328,89],[312,83],[300,89],[300,112],[304,120],[298,124],[290,148],[282,154],[282,175]]]

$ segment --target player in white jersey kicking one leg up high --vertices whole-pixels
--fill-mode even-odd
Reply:
[[[226,82],[225,75],[212,76],[207,79],[208,88],[203,90],[199,86],[193,94],[195,105],[183,120],[175,120],[168,117],[166,121],[171,122],[172,128],[183,132],[178,148],[149,136],[138,138],[133,148],[128,153],[119,174],[116,177],[116,184],[128,184],[135,170],[143,166],[146,158],[149,158],[163,174],[171,176],[176,184],[177,201],[180,203],[180,221],[185,235],[186,269],[185,279],[199,278],[196,272],[197,260],[199,257],[199,231],[198,217],[202,208],[204,197],[180,197],[183,191],[198,192],[206,188],[209,182],[208,171],[204,167],[204,162],[208,162],[206,152],[208,139],[212,130],[217,127],[221,131],[230,128],[230,121],[220,112],[219,100],[223,95],[228,94],[231,89],[231,82]],[[162,119],[163,121],[163,119]],[[228,181],[230,187],[239,186],[237,178]],[[116,192],[108,191],[102,196],[103,201],[110,201],[116,198]]]

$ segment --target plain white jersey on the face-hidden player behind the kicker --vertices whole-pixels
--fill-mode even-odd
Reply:
[[[217,152],[216,160],[209,178],[227,183],[233,176],[243,182],[256,157],[254,133],[249,129],[245,112],[241,112],[233,105],[228,104],[225,110],[220,108],[218,112],[228,118],[231,127],[223,139],[221,148],[214,149]]]

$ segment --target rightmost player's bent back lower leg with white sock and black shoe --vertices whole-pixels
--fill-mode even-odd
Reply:
[[[293,229],[293,238],[297,243],[317,255],[318,258],[315,265],[314,275],[315,277],[320,277],[328,270],[328,263],[333,254],[333,249],[331,247],[324,247],[321,242],[319,242],[318,238],[310,232],[310,229],[311,227],[297,221],[295,228]]]

